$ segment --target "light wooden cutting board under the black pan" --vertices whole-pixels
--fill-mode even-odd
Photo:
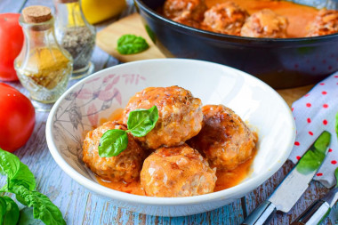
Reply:
[[[132,55],[122,55],[117,52],[117,39],[120,36],[132,34],[136,36],[144,37],[148,44],[149,49],[145,52]],[[152,43],[150,37],[141,22],[141,16],[138,13],[134,13],[121,20],[110,24],[108,27],[103,28],[97,34],[96,44],[105,52],[114,56],[120,61],[128,62],[134,60],[149,60],[165,58],[165,55],[157,49],[157,46]],[[286,103],[291,107],[294,100],[302,97],[306,92],[309,92],[313,85],[277,90],[277,92],[286,100]]]

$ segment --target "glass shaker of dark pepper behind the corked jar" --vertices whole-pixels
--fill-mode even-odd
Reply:
[[[73,57],[71,79],[93,72],[90,61],[95,45],[95,28],[84,18],[78,0],[55,0],[55,32],[60,45]]]

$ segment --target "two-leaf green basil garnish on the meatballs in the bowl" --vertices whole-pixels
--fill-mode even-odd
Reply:
[[[132,133],[135,137],[143,137],[155,127],[157,120],[157,106],[131,111],[127,121],[128,130],[114,129],[103,133],[100,139],[99,156],[117,157],[128,146],[127,133]]]

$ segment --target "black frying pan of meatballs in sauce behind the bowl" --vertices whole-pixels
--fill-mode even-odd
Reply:
[[[313,84],[338,70],[338,34],[253,38],[190,28],[157,13],[165,0],[134,0],[145,27],[167,57],[218,62],[259,77],[274,88]],[[335,1],[297,0],[335,8]]]

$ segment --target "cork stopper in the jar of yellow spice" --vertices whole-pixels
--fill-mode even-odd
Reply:
[[[46,6],[33,5],[24,8],[22,16],[27,23],[41,23],[52,19],[52,11]]]

